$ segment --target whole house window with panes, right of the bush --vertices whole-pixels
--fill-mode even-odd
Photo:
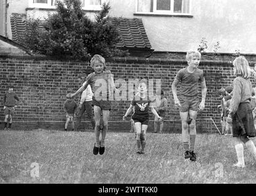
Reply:
[[[137,0],[137,13],[189,14],[190,0]]]

